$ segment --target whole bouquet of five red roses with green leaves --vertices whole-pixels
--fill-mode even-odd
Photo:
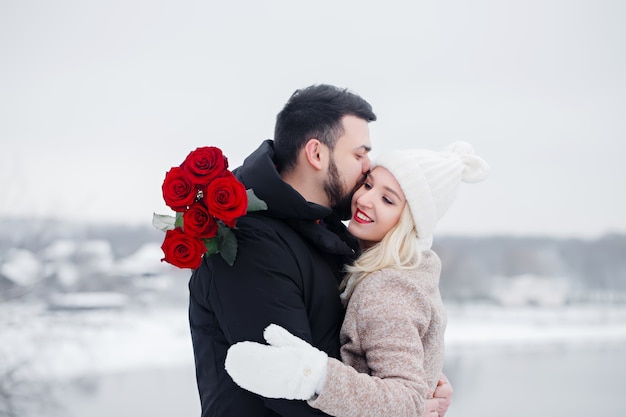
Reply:
[[[228,159],[214,146],[190,152],[165,174],[161,188],[176,216],[154,213],[152,224],[165,232],[161,261],[179,268],[196,269],[205,253],[217,252],[233,265],[237,241],[231,228],[248,211],[267,209],[228,170]]]

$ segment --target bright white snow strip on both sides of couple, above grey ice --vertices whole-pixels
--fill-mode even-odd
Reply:
[[[446,351],[626,346],[626,306],[448,305]],[[49,311],[0,304],[0,362],[31,378],[71,378],[193,363],[185,306]],[[27,376],[27,375],[24,375]]]

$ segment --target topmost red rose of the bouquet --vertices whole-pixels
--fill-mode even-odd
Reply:
[[[220,148],[204,146],[191,151],[181,164],[181,168],[194,184],[203,186],[224,175],[228,168],[228,159]]]

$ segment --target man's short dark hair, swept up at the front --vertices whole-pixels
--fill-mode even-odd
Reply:
[[[367,122],[376,120],[372,106],[348,89],[319,84],[296,90],[276,116],[274,150],[278,170],[293,168],[298,152],[311,138],[333,150],[344,133],[341,119],[347,115]]]

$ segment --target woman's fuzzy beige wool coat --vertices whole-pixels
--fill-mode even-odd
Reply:
[[[343,363],[329,359],[322,392],[309,405],[337,417],[422,416],[443,367],[440,274],[429,250],[418,269],[378,271],[344,296]]]

